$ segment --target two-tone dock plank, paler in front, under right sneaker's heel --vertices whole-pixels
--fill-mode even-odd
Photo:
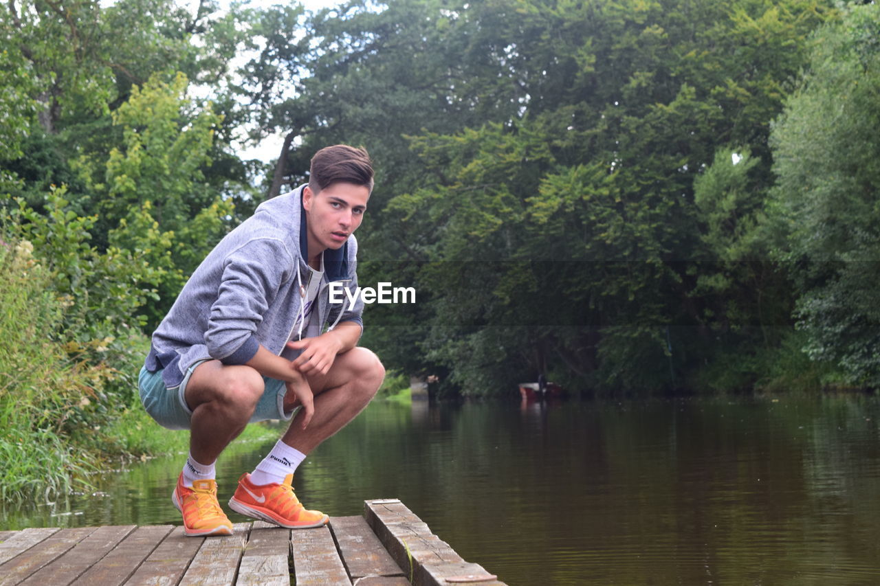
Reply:
[[[290,529],[253,523],[236,586],[290,586]]]

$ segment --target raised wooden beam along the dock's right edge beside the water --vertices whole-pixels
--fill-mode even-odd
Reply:
[[[397,499],[364,501],[364,516],[406,575],[412,560],[414,586],[447,586],[447,581],[453,578],[470,578],[477,582],[491,576],[478,564],[463,560]],[[480,583],[487,586],[503,584],[494,578]]]

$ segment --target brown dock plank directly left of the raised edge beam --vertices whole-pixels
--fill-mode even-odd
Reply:
[[[363,516],[331,517],[330,531],[333,531],[342,563],[353,581],[363,576],[403,575],[403,570],[382,546]]]

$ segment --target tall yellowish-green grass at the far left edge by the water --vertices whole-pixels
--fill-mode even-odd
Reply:
[[[66,420],[106,377],[58,339],[64,301],[26,240],[0,241],[0,498],[70,491],[94,465],[67,441]],[[77,480],[80,479],[80,480]]]

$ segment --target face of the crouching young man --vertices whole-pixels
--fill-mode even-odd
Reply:
[[[303,192],[303,207],[309,231],[309,254],[320,250],[336,250],[357,230],[367,209],[370,190],[353,183],[333,183],[318,194],[311,187]],[[317,251],[315,251],[317,252]]]

